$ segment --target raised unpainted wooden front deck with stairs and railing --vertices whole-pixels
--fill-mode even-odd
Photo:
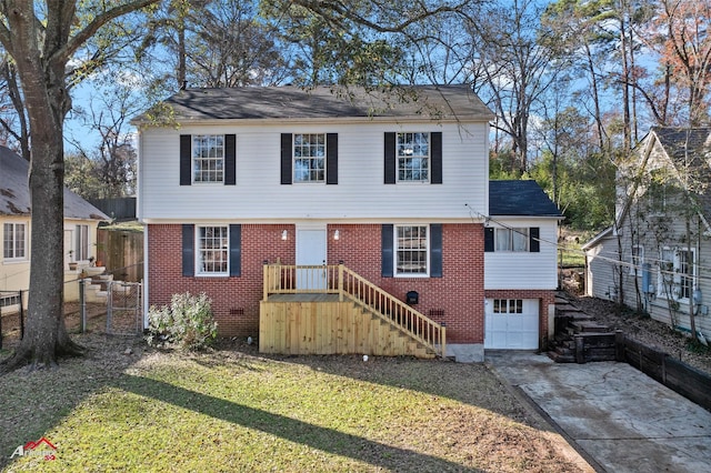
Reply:
[[[264,264],[259,351],[445,356],[447,329],[343,264]]]

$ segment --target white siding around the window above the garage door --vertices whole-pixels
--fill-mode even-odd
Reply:
[[[557,289],[558,220],[497,218],[497,221],[511,228],[540,228],[541,251],[485,252],[484,289]]]

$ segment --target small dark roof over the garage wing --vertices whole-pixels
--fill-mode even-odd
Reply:
[[[489,181],[489,215],[563,217],[533,180]]]

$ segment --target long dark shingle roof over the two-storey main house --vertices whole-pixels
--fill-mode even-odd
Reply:
[[[170,120],[367,120],[430,119],[488,121],[493,118],[469,85],[409,85],[369,91],[360,87],[239,87],[186,89],[162,107],[132,120],[152,124],[151,114],[168,107]]]

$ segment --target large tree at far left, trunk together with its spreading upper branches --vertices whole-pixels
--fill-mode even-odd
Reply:
[[[77,354],[63,318],[63,124],[71,109],[68,64],[102,27],[158,0],[0,2],[0,43],[20,79],[30,130],[32,259],[24,336],[4,370],[28,361],[51,365]]]

